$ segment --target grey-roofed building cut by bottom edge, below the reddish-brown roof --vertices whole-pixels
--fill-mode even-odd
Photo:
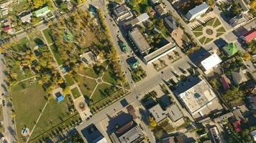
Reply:
[[[133,120],[119,127],[119,129],[116,129],[116,131],[110,135],[110,139],[113,143],[139,142],[143,137],[142,130]]]

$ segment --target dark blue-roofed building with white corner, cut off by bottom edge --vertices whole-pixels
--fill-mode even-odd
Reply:
[[[106,138],[99,132],[94,124],[90,124],[88,127],[81,130],[83,139],[86,139],[88,143],[107,143]]]

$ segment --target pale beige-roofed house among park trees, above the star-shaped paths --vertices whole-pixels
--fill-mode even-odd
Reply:
[[[81,54],[80,59],[86,66],[93,66],[94,64],[96,64],[97,61],[96,55],[93,54],[91,51],[87,51],[86,53]]]

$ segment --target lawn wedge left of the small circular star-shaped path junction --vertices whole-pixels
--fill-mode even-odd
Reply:
[[[89,79],[87,77],[81,77],[79,75],[77,75],[75,79],[83,95],[86,97],[90,97],[93,89],[96,87],[96,80]]]

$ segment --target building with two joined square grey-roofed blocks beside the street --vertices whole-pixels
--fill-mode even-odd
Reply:
[[[155,118],[155,122],[159,123],[169,117],[173,122],[178,121],[178,119],[183,117],[183,114],[180,112],[180,109],[176,104],[172,104],[167,107],[165,110],[160,107],[160,104],[156,104],[154,107],[149,109],[149,112]]]

